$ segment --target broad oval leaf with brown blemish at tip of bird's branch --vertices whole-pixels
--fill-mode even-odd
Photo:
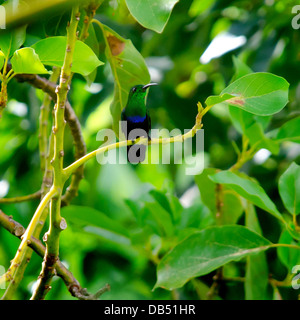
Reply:
[[[289,83],[284,78],[258,72],[237,79],[218,97],[208,97],[206,101],[208,105],[226,102],[247,112],[267,116],[285,107],[288,103],[288,88]]]

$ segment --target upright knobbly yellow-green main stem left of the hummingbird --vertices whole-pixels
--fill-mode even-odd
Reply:
[[[46,252],[38,285],[31,297],[33,300],[44,299],[47,292],[51,288],[50,283],[54,275],[54,268],[59,255],[60,232],[67,227],[65,219],[60,215],[62,189],[66,181],[63,171],[64,129],[66,124],[65,106],[72,78],[71,67],[75,43],[77,40],[76,33],[79,20],[80,11],[77,4],[74,5],[72,9],[71,20],[67,26],[67,46],[65,58],[61,68],[60,82],[55,89],[57,100],[54,106],[54,125],[52,127],[52,134],[54,137],[54,156],[51,161],[51,165],[54,173],[53,188],[57,191],[57,194],[51,200],[50,226],[46,234]]]

